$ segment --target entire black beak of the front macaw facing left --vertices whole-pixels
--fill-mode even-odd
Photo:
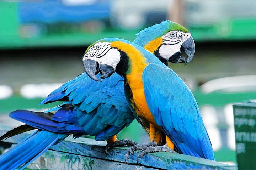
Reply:
[[[95,81],[101,81],[101,79],[105,79],[110,77],[114,72],[115,69],[112,66],[107,64],[98,64],[97,61],[86,59],[84,62],[84,69],[86,74]],[[101,74],[101,79],[98,79],[95,75],[98,73]]]

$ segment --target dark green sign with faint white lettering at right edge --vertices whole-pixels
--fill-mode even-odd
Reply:
[[[256,103],[233,105],[238,169],[256,169]]]

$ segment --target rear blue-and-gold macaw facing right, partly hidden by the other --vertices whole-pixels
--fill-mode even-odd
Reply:
[[[188,33],[187,29],[177,23],[164,21],[138,33],[134,42],[154,53],[166,65],[167,61],[185,62],[180,53],[180,48],[183,47],[187,50],[188,63],[194,55],[194,42],[191,37],[181,36],[182,33]],[[177,36],[172,36],[173,34]],[[177,43],[169,41],[168,37],[173,41],[177,39]],[[96,75],[96,78],[99,76]],[[93,81],[83,73],[63,84],[41,102],[46,104],[64,101],[63,104],[41,113],[26,110],[10,113],[10,117],[26,125],[11,130],[0,140],[28,130],[39,130],[0,156],[0,170],[15,169],[26,163],[22,166],[24,168],[50,146],[70,134],[73,137],[95,136],[98,141],[107,140],[110,146],[137,144],[131,140],[116,140],[116,134],[134,120],[124,96],[123,81],[117,73],[102,82]],[[147,126],[144,129],[149,133]],[[28,147],[27,152],[22,152],[29,145],[36,148]]]

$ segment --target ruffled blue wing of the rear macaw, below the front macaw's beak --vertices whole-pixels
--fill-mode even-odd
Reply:
[[[116,135],[134,120],[124,96],[123,78],[117,73],[102,82],[83,73],[54,90],[40,104],[54,101],[70,102],[79,126],[96,140]]]

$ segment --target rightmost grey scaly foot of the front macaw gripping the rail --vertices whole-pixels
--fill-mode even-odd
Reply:
[[[177,153],[171,148],[169,148],[166,144],[161,145],[161,146],[149,146],[146,149],[142,150],[140,154],[137,157],[137,163],[139,158],[142,158],[145,154],[150,153],[150,152],[171,152],[171,153]]]

